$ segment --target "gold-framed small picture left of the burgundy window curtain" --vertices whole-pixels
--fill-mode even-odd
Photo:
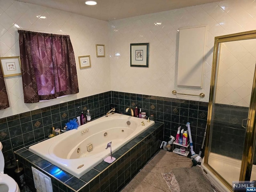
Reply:
[[[20,57],[1,57],[0,62],[4,77],[21,75]]]

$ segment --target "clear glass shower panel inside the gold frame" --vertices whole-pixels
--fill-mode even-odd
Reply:
[[[246,171],[256,40],[221,42],[217,54],[208,164],[232,185]]]

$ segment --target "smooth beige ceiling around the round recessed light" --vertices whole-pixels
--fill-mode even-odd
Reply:
[[[96,0],[88,6],[85,0],[17,0],[55,8],[104,21],[117,20],[183,7],[217,2],[220,0]]]

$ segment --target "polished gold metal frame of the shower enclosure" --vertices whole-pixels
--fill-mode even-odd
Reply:
[[[206,145],[205,145],[205,156],[204,165],[220,180],[227,188],[232,190],[231,184],[229,184],[214,168],[208,164],[208,156],[210,154],[211,135],[212,135],[212,115],[213,115],[213,104],[216,96],[216,80],[218,74],[218,60],[220,58],[221,43],[232,42],[238,40],[249,40],[256,38],[256,30],[248,32],[240,32],[236,34],[229,34],[224,36],[217,36],[214,40],[214,52],[212,62],[212,76],[210,82],[210,97],[208,105],[208,117],[207,117],[207,132],[206,132]],[[254,148],[256,140],[256,70],[254,71],[254,80],[252,85],[252,94],[249,106],[249,113],[247,119],[247,126],[245,128],[246,136],[244,143],[244,150],[242,154],[242,163],[240,169],[240,181],[250,181],[252,172],[252,164],[254,157]]]

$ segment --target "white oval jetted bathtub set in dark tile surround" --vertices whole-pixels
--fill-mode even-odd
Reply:
[[[109,142],[114,153],[153,124],[146,119],[111,114],[34,144],[29,150],[80,178],[110,156],[110,148],[106,149]]]

